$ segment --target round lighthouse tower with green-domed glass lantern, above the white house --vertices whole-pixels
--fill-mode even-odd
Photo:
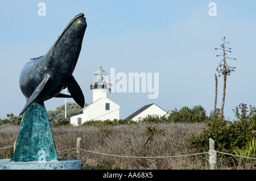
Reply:
[[[93,91],[93,102],[100,98],[108,98],[108,92],[111,92],[112,86],[108,80],[108,73],[100,66],[100,69],[94,73],[94,83],[90,83],[90,90]]]

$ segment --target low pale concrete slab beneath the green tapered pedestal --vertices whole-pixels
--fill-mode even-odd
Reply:
[[[81,162],[75,159],[47,162],[10,162],[10,159],[0,159],[0,170],[81,170]]]

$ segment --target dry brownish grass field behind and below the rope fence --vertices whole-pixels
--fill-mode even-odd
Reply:
[[[58,158],[81,160],[82,169],[209,169],[208,154],[174,158],[123,158],[98,153],[139,157],[185,155],[199,153],[188,148],[188,138],[199,135],[204,123],[139,123],[135,125],[97,125],[52,127]],[[0,125],[0,148],[13,145],[19,126]],[[81,137],[80,154],[76,153],[76,140]],[[0,149],[0,158],[11,157],[10,149]],[[208,150],[205,150],[205,152]],[[222,159],[218,169],[253,169],[230,167]]]

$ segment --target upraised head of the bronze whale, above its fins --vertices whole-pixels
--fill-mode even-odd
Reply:
[[[57,67],[61,72],[73,73],[82,47],[82,39],[86,30],[84,14],[75,16],[65,27],[49,52],[51,66]]]

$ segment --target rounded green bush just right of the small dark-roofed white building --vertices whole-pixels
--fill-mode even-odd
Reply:
[[[199,123],[208,120],[206,111],[203,106],[194,106],[189,108],[187,106],[181,107],[179,111],[175,108],[168,116],[168,121],[174,123]]]

